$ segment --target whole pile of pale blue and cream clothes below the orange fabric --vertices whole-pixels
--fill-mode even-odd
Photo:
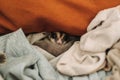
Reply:
[[[80,41],[55,57],[30,44],[19,29],[0,37],[5,80],[119,80],[120,6],[100,11]],[[40,35],[39,35],[40,36]]]

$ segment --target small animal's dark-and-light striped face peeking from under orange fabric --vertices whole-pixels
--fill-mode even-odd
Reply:
[[[70,41],[69,36],[64,32],[51,32],[49,35],[49,40],[58,45],[66,44]]]

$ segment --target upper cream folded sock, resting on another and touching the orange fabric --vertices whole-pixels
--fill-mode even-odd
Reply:
[[[103,21],[104,20],[104,21]],[[103,23],[98,25],[101,21]],[[98,26],[97,26],[98,25]],[[96,27],[94,30],[94,27]],[[120,6],[101,11],[81,37],[80,48],[84,51],[103,52],[120,39]]]

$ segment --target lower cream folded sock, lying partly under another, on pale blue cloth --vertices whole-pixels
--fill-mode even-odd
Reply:
[[[79,48],[79,41],[63,53],[57,63],[57,69],[66,75],[86,75],[100,70],[105,66],[105,53],[90,53]]]

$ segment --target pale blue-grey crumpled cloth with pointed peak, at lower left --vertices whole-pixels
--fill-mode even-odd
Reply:
[[[4,80],[104,80],[109,75],[105,71],[76,77],[60,74],[42,53],[29,44],[21,29],[0,37],[0,51],[7,57],[6,63],[0,65]]]

